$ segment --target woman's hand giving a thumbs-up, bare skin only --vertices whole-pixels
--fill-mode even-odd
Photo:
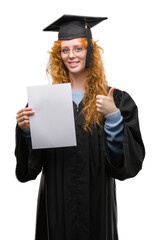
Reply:
[[[103,115],[112,114],[118,111],[113,99],[113,91],[115,88],[109,90],[108,96],[97,95],[96,106],[97,111]]]

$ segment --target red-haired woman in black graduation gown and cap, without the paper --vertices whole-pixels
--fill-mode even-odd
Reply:
[[[64,15],[45,29],[59,31],[47,69],[53,84],[71,83],[77,146],[33,150],[34,109],[17,113],[17,178],[26,182],[42,171],[36,240],[117,240],[115,178],[134,177],[142,167],[137,106],[108,87],[92,40],[90,27],[104,19]]]

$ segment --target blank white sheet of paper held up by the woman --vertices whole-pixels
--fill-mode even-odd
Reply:
[[[32,148],[76,146],[71,84],[28,87]]]

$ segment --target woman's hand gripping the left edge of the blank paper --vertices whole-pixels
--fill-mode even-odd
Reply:
[[[30,126],[29,116],[33,114],[34,111],[32,110],[31,107],[23,108],[17,112],[16,116],[17,123],[22,130],[29,128]]]

